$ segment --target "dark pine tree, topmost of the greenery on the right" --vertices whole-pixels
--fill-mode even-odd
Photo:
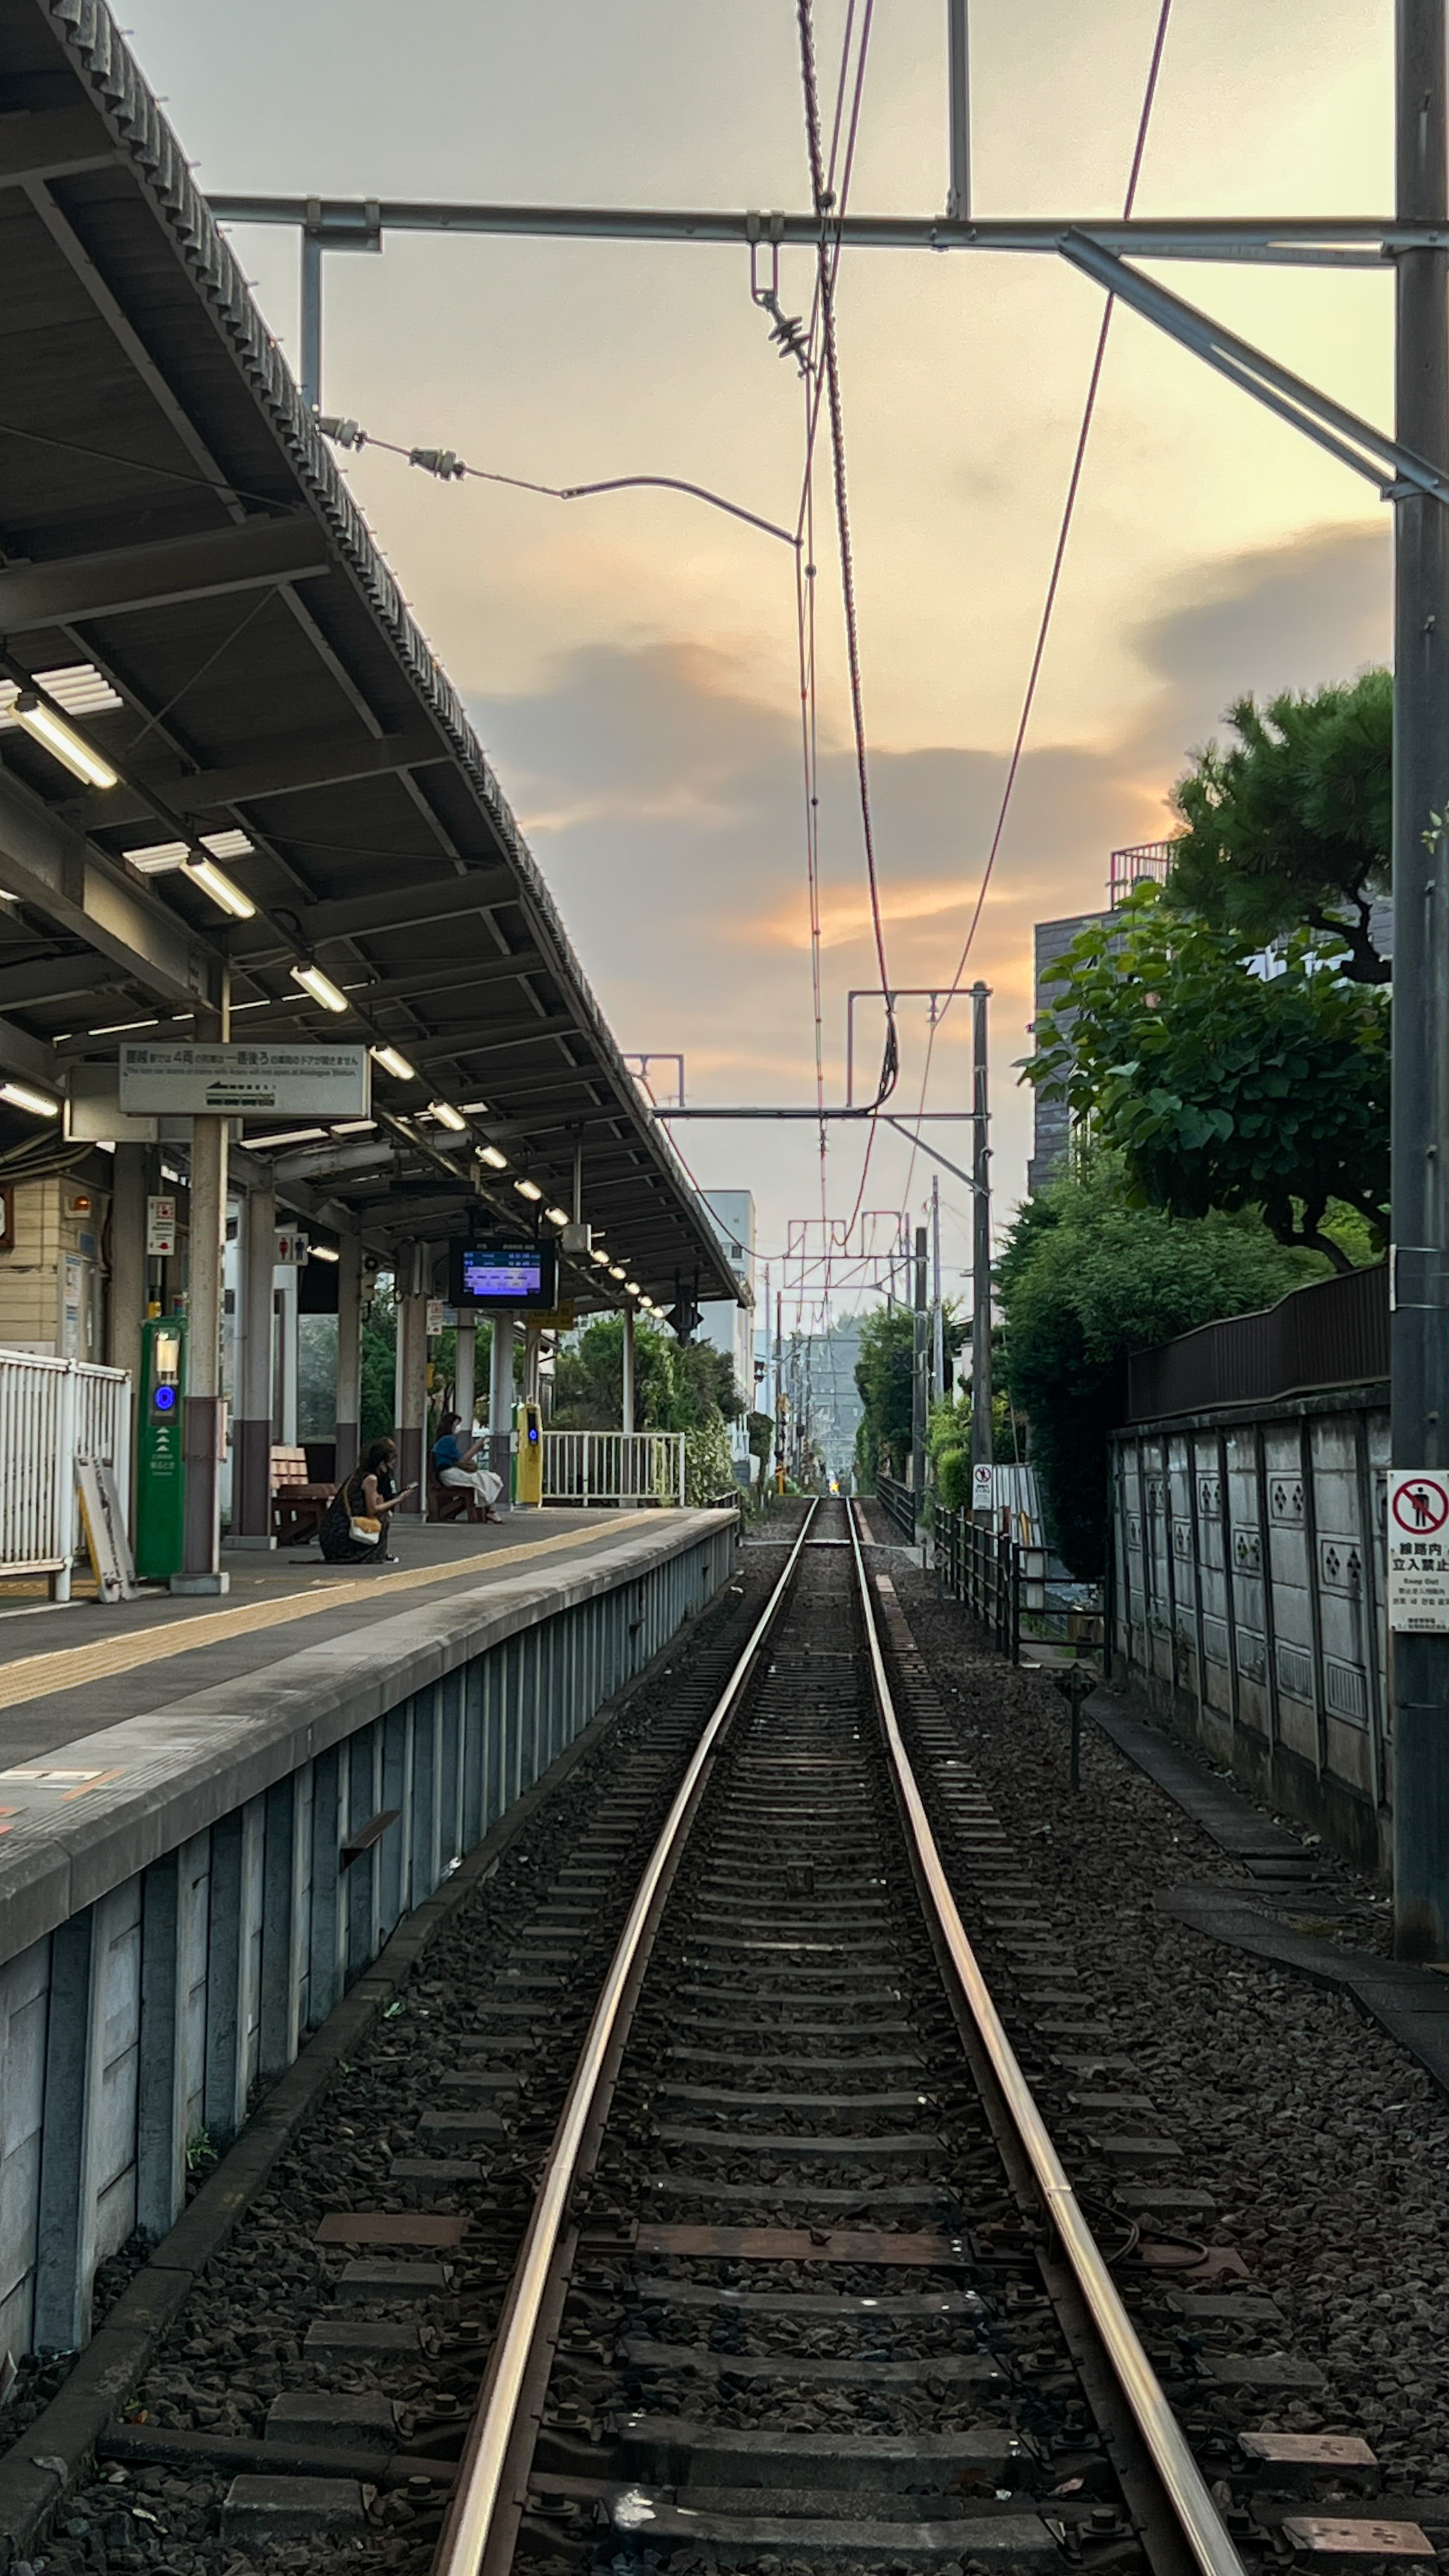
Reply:
[[[1168,902],[1248,948],[1318,930],[1343,948],[1343,974],[1387,984],[1369,914],[1390,884],[1392,675],[1346,688],[1238,698],[1235,742],[1194,755],[1174,791],[1186,829]]]

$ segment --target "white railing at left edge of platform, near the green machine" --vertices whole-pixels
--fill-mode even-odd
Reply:
[[[0,1574],[49,1574],[57,1600],[69,1600],[80,1458],[106,1458],[129,1497],[126,1370],[0,1350]]]

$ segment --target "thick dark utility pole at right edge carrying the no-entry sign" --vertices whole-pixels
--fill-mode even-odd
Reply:
[[[1398,211],[1444,224],[1444,0],[1395,0]],[[1449,252],[1400,250],[1398,438],[1449,464]],[[1392,1252],[1395,1468],[1449,1466],[1449,510],[1395,492]],[[1449,1958],[1449,1636],[1395,1631],[1395,1953]]]

